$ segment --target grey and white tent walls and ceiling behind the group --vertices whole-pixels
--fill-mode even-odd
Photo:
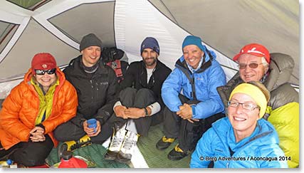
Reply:
[[[182,56],[184,38],[199,36],[216,52],[227,81],[238,70],[234,55],[248,43],[261,43],[270,53],[293,58],[289,82],[298,90],[299,14],[298,0],[0,1],[0,99],[23,80],[36,53],[51,53],[64,68],[80,54],[80,40],[88,33],[105,47],[125,51],[128,63],[142,59],[140,44],[152,36],[159,42],[159,60],[172,69]],[[142,165],[133,166],[153,167]]]

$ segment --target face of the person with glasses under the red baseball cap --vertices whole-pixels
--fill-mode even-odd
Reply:
[[[258,63],[257,68],[250,68],[250,63]],[[246,68],[239,69],[240,77],[244,82],[260,81],[265,75],[266,67],[262,64],[262,58],[245,53],[239,57],[239,64],[245,64]]]

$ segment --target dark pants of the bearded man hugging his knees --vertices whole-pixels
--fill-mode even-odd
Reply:
[[[148,105],[156,102],[155,95],[152,90],[147,88],[142,88],[140,90],[136,90],[135,88],[125,88],[120,91],[120,102],[127,108],[145,108]],[[117,117],[114,113],[111,116],[110,121],[113,122],[115,128],[120,128],[124,125],[127,120],[122,117]],[[136,125],[136,129],[138,134],[146,136],[151,125],[157,125],[163,120],[162,111],[157,112],[156,114],[149,117],[140,117],[137,119],[133,119]]]

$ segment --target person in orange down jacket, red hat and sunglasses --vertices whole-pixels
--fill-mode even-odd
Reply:
[[[37,53],[24,80],[11,90],[0,112],[0,160],[33,167],[45,163],[58,141],[53,130],[75,116],[73,85],[50,53]]]

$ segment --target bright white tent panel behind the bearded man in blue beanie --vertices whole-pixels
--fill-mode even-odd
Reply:
[[[190,33],[172,23],[149,1],[116,1],[115,11],[116,44],[127,53],[130,61],[141,60],[140,44],[146,36],[153,36],[159,42],[159,60],[167,64],[169,68],[174,68],[175,62],[182,56],[182,41]],[[230,68],[237,68],[236,63],[231,59],[226,58],[214,48],[206,46],[216,52],[219,63]],[[225,68],[225,72],[229,80],[236,70]]]

